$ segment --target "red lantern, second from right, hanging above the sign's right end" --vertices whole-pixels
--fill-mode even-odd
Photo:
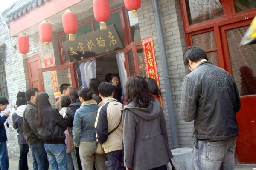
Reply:
[[[110,7],[108,0],[93,0],[93,14],[99,22],[100,30],[106,30],[106,22],[110,17]]]

